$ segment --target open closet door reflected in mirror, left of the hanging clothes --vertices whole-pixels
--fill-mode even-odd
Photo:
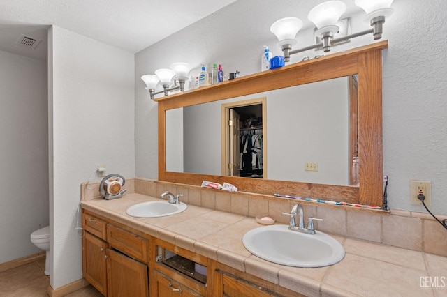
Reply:
[[[240,116],[230,109],[230,176],[240,176]]]

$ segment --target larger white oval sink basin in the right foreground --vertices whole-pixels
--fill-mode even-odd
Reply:
[[[291,231],[284,224],[252,229],[242,242],[251,254],[286,266],[322,267],[344,258],[344,248],[335,238],[320,231],[314,235]]]

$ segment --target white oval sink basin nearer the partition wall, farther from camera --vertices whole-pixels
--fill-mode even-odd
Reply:
[[[180,202],[180,204],[172,204],[166,200],[147,201],[127,208],[126,213],[136,218],[157,218],[181,213],[186,208],[188,206],[183,202]]]

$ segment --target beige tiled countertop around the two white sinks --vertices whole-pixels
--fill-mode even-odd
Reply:
[[[242,236],[261,227],[251,217],[193,205],[168,217],[126,215],[129,206],[154,200],[131,193],[82,201],[82,208],[307,296],[447,296],[447,257],[331,234],[346,250],[338,264],[282,266],[244,248]]]

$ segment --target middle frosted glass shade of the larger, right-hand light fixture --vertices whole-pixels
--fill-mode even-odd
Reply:
[[[339,18],[346,11],[346,4],[342,1],[326,1],[318,4],[310,10],[309,21],[313,22],[318,29],[325,26],[337,25]]]

